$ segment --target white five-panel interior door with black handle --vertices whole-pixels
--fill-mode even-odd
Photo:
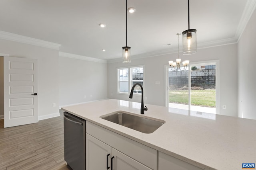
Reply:
[[[38,122],[38,61],[4,57],[4,127]]]

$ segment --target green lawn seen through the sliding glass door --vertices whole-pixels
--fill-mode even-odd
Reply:
[[[215,107],[215,90],[191,90],[191,105]],[[177,104],[188,104],[188,90],[170,90],[169,102]]]

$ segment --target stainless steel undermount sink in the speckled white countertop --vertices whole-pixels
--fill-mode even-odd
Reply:
[[[142,133],[153,133],[156,129],[162,126],[165,121],[160,119],[153,119],[151,117],[134,115],[131,113],[124,113],[121,111],[103,115],[100,118],[117,123],[119,125],[140,131]]]

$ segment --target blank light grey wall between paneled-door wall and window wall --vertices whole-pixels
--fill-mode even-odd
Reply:
[[[60,106],[106,99],[107,76],[107,63],[59,57]]]

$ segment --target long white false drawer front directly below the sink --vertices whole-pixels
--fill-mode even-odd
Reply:
[[[130,156],[134,160],[157,170],[157,150],[90,122],[86,123],[86,133]]]

